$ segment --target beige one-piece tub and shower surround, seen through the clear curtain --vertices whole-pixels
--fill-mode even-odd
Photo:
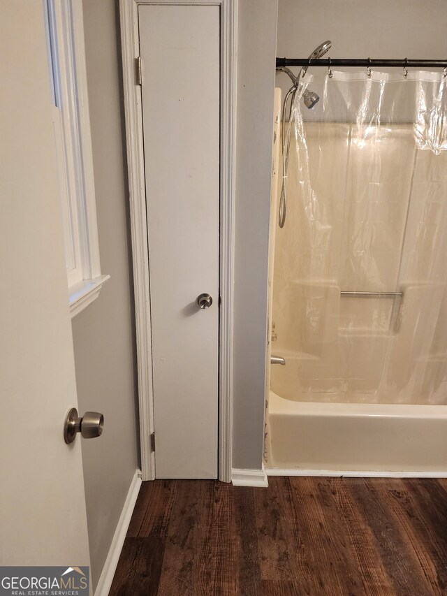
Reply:
[[[266,462],[276,474],[447,475],[442,73],[302,82],[274,245]],[[276,212],[272,218],[276,218]]]

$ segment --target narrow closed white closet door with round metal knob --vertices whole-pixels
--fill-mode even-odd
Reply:
[[[219,7],[138,18],[156,477],[217,478]]]

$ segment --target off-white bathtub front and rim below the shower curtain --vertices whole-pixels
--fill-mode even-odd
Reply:
[[[447,477],[447,406],[317,403],[270,391],[270,475]]]

